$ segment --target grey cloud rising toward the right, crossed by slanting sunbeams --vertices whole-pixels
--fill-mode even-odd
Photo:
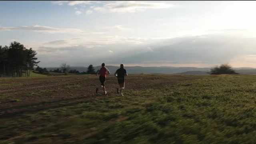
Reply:
[[[161,64],[164,61],[169,64],[198,62],[221,64],[230,62],[230,60],[238,55],[245,54],[249,49],[252,54],[256,54],[256,50],[252,51],[252,47],[248,46],[246,50],[244,49],[248,43],[250,43],[250,46],[253,46],[254,40],[245,40],[242,37],[209,35],[207,38],[200,38],[199,36],[191,36],[164,40],[162,43],[165,45],[152,45],[153,48],[144,48],[144,51],[141,51],[139,54],[134,54],[120,60],[128,64]]]

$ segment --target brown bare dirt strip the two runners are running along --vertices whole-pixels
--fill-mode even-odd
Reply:
[[[202,78],[202,76],[164,76],[164,75],[131,75],[126,78],[126,89],[140,90],[144,88],[161,88],[178,81]],[[23,114],[38,111],[72,106],[94,98],[117,96],[118,86],[114,76],[108,76],[106,90],[97,96],[95,88],[98,76],[49,76],[43,78],[9,78],[0,79],[0,125],[8,121],[18,120]],[[125,93],[125,92],[124,92]],[[59,116],[58,120],[65,118]],[[14,128],[1,128],[0,140],[18,136],[21,132],[36,129],[38,123],[43,125],[49,121],[45,118],[31,122],[30,128],[14,130]],[[19,122],[22,125],[22,122]]]

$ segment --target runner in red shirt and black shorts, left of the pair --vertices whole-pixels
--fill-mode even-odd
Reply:
[[[100,84],[98,85],[98,88],[96,88],[96,94],[98,94],[98,91],[101,88],[103,88],[104,90],[104,94],[106,95],[107,94],[107,91],[105,89],[105,81],[106,81],[106,75],[107,74],[110,74],[108,68],[105,67],[105,63],[102,63],[101,64],[101,68],[100,70],[97,70],[96,72],[96,76],[98,76],[98,74],[100,74]]]

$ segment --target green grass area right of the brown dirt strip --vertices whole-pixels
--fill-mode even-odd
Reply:
[[[162,88],[126,89],[125,96],[98,97],[74,106],[24,114],[28,122],[42,115],[49,121],[58,115],[69,118],[12,142],[255,144],[255,93],[254,76],[209,76]]]

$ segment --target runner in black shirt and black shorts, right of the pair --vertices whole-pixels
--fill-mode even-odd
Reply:
[[[116,92],[119,94],[120,91],[121,96],[123,96],[124,77],[128,75],[126,70],[124,69],[124,64],[120,64],[120,68],[116,70],[114,75],[117,77],[117,81],[119,84],[119,88],[116,88]]]

